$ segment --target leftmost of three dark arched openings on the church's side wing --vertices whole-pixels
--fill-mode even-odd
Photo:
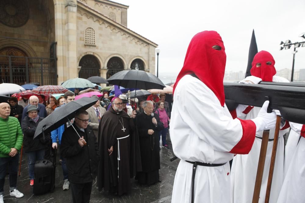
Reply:
[[[93,55],[85,55],[79,61],[78,66],[81,66],[81,70],[78,73],[79,78],[87,79],[91,76],[100,76],[99,60]]]

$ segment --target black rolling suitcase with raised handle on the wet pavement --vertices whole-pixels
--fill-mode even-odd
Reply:
[[[36,161],[34,167],[34,194],[53,192],[55,188],[56,149],[53,163],[49,160]]]

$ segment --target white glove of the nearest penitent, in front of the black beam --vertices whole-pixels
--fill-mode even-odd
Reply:
[[[267,113],[269,101],[265,101],[256,118],[251,119],[256,125],[256,131],[269,130],[275,127],[276,113]]]

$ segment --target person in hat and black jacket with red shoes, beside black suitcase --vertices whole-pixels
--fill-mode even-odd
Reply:
[[[45,155],[49,135],[39,136],[33,139],[37,125],[42,121],[42,117],[38,116],[38,108],[29,106],[27,108],[27,116],[24,117],[21,123],[23,131],[23,149],[28,156],[28,170],[30,176],[30,185],[34,185],[34,166],[35,162],[42,160]]]

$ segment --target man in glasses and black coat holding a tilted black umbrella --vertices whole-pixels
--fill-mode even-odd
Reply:
[[[87,111],[77,111],[73,125],[63,132],[61,139],[60,154],[66,158],[74,203],[90,201],[92,182],[97,175],[99,148],[88,121]]]

